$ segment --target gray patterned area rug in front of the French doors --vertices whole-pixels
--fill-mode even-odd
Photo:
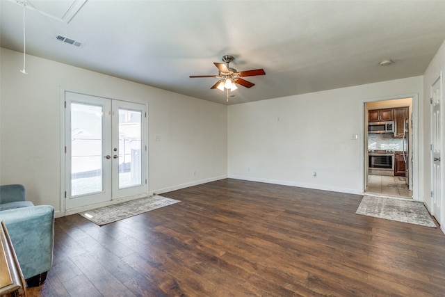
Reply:
[[[83,211],[79,214],[92,221],[92,223],[102,226],[131,216],[137,216],[138,214],[143,214],[147,211],[166,207],[177,202],[181,201],[154,195],[109,205],[107,207]]]

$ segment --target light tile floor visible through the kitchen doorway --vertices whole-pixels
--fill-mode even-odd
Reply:
[[[389,177],[385,175],[369,175],[365,193],[391,195],[402,198],[412,198],[412,191],[401,188],[406,177]]]

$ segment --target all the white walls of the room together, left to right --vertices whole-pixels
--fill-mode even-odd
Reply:
[[[22,54],[8,49],[1,49],[0,62],[0,184],[24,184],[35,204],[60,211],[60,87],[148,102],[149,191],[155,193],[227,174],[361,193],[363,103],[419,94],[418,199],[430,203],[428,86],[444,69],[444,45],[424,77],[229,107],[34,56],[27,56],[24,75]]]

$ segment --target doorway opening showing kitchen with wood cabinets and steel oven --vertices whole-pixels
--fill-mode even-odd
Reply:
[[[414,198],[413,97],[364,103],[364,193]]]

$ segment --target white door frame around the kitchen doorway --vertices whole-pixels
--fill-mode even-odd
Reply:
[[[412,150],[413,165],[410,171],[412,175],[412,199],[419,201],[419,94],[407,94],[397,95],[389,97],[375,97],[369,99],[362,99],[360,102],[360,121],[362,125],[363,138],[362,138],[362,150],[360,150],[360,172],[362,172],[362,193],[366,190],[368,172],[366,172],[367,164],[367,152],[368,152],[368,130],[366,129],[366,121],[368,117],[366,115],[366,103],[389,101],[395,99],[412,98],[412,143],[410,149]]]

